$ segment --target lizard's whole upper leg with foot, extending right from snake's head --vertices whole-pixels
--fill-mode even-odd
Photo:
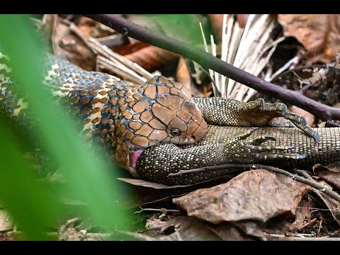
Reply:
[[[265,103],[262,98],[248,103],[228,98],[193,98],[203,118],[208,124],[229,125],[238,127],[267,126],[300,128],[314,140],[319,142],[319,135],[306,125],[306,120],[301,115],[287,110],[284,103]],[[290,123],[273,123],[273,118],[283,117]],[[292,125],[293,123],[293,125]]]

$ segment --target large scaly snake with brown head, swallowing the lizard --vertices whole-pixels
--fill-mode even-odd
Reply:
[[[11,69],[4,64],[1,69],[1,105],[11,115],[19,115],[27,103],[14,93],[15,85],[8,78]],[[138,176],[135,165],[146,147],[159,142],[191,144],[205,135],[207,123],[200,109],[190,91],[175,81],[154,77],[130,85],[53,55],[47,55],[46,73],[44,84],[55,101],[82,120],[81,135],[100,136],[116,162],[133,176]]]

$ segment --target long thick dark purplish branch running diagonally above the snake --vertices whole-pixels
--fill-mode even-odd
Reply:
[[[227,64],[226,62],[217,59],[217,57],[213,57],[192,45],[180,42],[174,38],[169,38],[165,35],[159,35],[152,30],[130,23],[120,16],[112,14],[83,15],[113,28],[118,33],[122,33],[123,35],[130,36],[136,40],[141,40],[142,42],[147,42],[151,45],[161,47],[164,50],[169,50],[182,55],[183,57],[187,57],[198,62],[202,67],[205,67],[205,69],[212,69],[215,72],[219,72],[234,81],[238,81],[239,83],[251,87],[251,89],[256,89],[256,91],[269,94],[282,101],[293,103],[295,106],[298,106],[305,111],[309,111],[322,120],[340,120],[339,108],[326,106],[323,103],[307,98],[307,96],[302,95],[299,91],[284,89],[283,87],[272,84],[271,82],[264,81],[263,79],[244,72],[242,69],[233,67],[231,64]]]

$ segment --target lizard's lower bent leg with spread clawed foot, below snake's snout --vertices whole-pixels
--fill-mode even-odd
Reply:
[[[255,164],[273,160],[303,159],[305,155],[283,152],[293,146],[264,146],[263,142],[273,140],[271,136],[249,139],[256,128],[233,137],[225,144],[186,145],[159,144],[145,149],[138,159],[136,171],[142,179],[167,185],[189,184],[206,181],[227,174],[225,170],[188,173],[181,176],[168,176],[180,170],[190,170],[222,164]]]

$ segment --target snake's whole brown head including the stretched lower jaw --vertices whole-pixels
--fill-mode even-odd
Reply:
[[[134,169],[145,148],[160,142],[193,144],[207,132],[208,125],[200,109],[182,84],[159,76],[147,81],[135,94],[132,92],[124,92],[132,94],[133,101],[128,103],[130,113],[116,123],[121,137],[116,159],[121,164]]]

